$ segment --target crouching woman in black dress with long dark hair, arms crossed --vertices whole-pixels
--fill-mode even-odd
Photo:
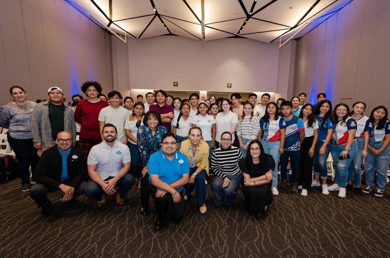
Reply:
[[[241,191],[245,197],[245,209],[251,214],[264,213],[273,201],[270,184],[272,171],[275,168],[273,157],[264,152],[258,140],[253,140],[249,144],[245,159],[240,160],[239,166],[244,177]]]

